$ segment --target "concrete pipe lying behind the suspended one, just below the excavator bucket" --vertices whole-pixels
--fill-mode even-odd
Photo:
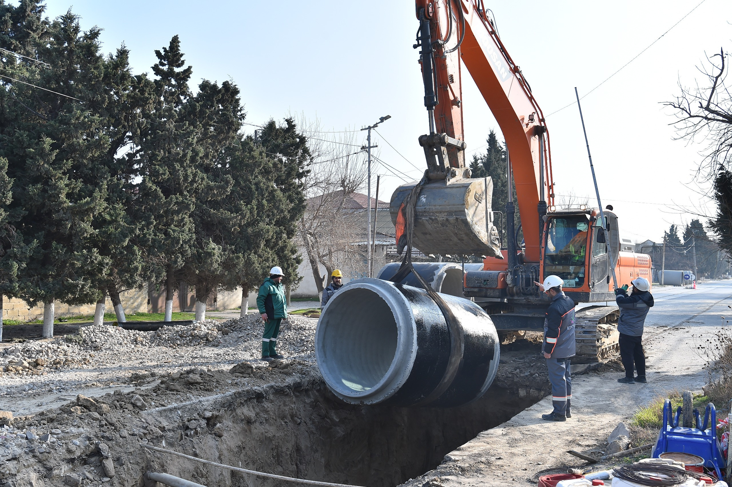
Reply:
[[[376,276],[379,279],[389,280],[399,270],[400,262],[391,262],[381,267]],[[466,297],[463,294],[463,264],[455,262],[413,262],[412,267],[416,270],[427,284],[437,292],[449,294],[450,296]],[[483,264],[465,264],[465,270],[482,270]],[[407,286],[421,288],[419,280],[409,272],[401,282]]]

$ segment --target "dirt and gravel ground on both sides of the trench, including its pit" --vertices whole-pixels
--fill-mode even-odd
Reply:
[[[88,343],[71,342],[89,363],[0,376],[0,409],[15,410],[10,421],[0,415],[0,424],[9,423],[0,429],[0,486],[142,487],[147,469],[209,487],[275,486],[151,453],[141,443],[368,487],[535,485],[539,471],[583,465],[566,450],[600,456],[610,431],[641,404],[675,388],[701,390],[705,360],[690,350],[728,309],[732,283],[718,287],[717,294],[699,293],[691,311],[673,301],[680,294],[657,294],[657,303],[668,302],[657,304],[647,322],[649,384],[619,384],[617,364],[573,367],[573,417],[566,423],[539,419],[551,409],[550,387],[531,334],[501,347],[498,376],[477,403],[410,409],[335,400],[314,364],[315,320],[285,330],[280,343],[288,358],[274,367],[254,358],[261,336],[255,321],[229,324],[228,332],[209,324],[165,336],[92,333]],[[60,340],[68,352],[70,342]],[[42,357],[42,349],[33,350]]]

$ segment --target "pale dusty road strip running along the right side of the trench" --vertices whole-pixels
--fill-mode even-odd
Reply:
[[[572,418],[566,423],[539,419],[552,408],[551,397],[545,398],[507,423],[483,431],[449,453],[437,469],[405,485],[421,486],[439,476],[447,487],[535,486],[528,477],[550,466],[580,465],[566,450],[602,443],[638,406],[669,390],[701,390],[706,357],[696,352],[696,346],[713,339],[722,324],[728,326],[732,280],[709,281],[698,289],[657,288],[653,294],[656,305],[643,337],[649,384],[619,384],[616,379],[623,376],[619,372],[578,376],[572,381]]]

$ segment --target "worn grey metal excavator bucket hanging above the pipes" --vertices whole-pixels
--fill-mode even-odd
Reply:
[[[404,205],[417,182],[397,187],[389,209],[403,228]],[[502,259],[498,231],[493,226],[493,179],[438,179],[419,192],[412,243],[429,255],[477,255]],[[401,218],[400,218],[401,212]]]

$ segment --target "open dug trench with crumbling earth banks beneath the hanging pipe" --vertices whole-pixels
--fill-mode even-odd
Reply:
[[[329,392],[315,365],[299,360],[275,368],[244,363],[231,371],[138,374],[129,393],[81,396],[8,421],[5,434],[15,439],[0,448],[0,486],[149,486],[148,470],[209,487],[297,485],[141,443],[288,477],[396,486],[549,392],[537,343],[502,348],[488,393],[452,409],[348,405]]]

